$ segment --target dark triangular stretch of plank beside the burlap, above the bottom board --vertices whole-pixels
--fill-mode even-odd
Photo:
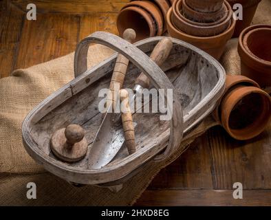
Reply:
[[[213,188],[206,142],[205,135],[198,137],[175,162],[160,171],[148,189]]]

